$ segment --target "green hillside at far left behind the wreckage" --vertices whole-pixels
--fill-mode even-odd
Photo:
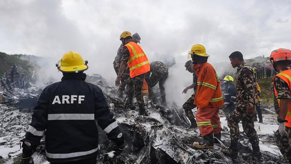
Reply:
[[[29,55],[15,54],[8,55],[0,52],[0,78],[5,72],[10,71],[10,68],[15,64],[19,73],[25,73],[27,77],[32,76],[33,66],[28,60],[22,60],[22,57]]]

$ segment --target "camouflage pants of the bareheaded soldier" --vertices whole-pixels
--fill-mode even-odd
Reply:
[[[247,114],[246,108],[236,107],[227,120],[231,140],[233,142],[238,142],[239,140],[239,121],[242,121],[243,131],[248,136],[249,142],[253,146],[259,146],[259,138],[254,128],[254,115]]]

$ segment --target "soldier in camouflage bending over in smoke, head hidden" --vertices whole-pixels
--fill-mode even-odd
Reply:
[[[160,61],[153,61],[150,63],[150,67],[151,70],[147,72],[145,76],[146,83],[149,86],[149,98],[154,104],[157,104],[156,96],[152,88],[156,86],[157,83],[159,83],[162,105],[166,105],[165,82],[169,76],[168,67]]]

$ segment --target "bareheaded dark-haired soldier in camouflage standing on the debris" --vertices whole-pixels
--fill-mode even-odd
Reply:
[[[230,54],[229,59],[233,68],[238,67],[236,76],[236,96],[237,103],[233,113],[227,121],[230,129],[231,143],[228,149],[221,152],[228,156],[237,156],[237,144],[239,140],[239,121],[242,121],[243,130],[252,144],[253,156],[261,159],[259,148],[259,138],[254,128],[254,111],[258,104],[256,79],[252,67],[243,60],[243,54],[239,51]]]

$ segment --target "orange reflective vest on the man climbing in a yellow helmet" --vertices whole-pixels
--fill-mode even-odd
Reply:
[[[134,42],[125,45],[129,50],[129,58],[127,65],[129,67],[129,75],[131,78],[149,72],[149,60],[143,52],[142,47]]]

